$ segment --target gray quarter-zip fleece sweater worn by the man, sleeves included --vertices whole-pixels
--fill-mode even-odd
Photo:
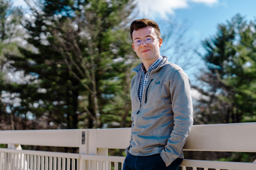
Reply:
[[[149,74],[143,89],[141,104],[138,88],[142,75],[141,64],[132,71],[131,81],[132,128],[130,146],[125,149],[135,156],[161,154],[170,165],[183,158],[183,146],[193,125],[193,106],[190,80],[167,57]]]

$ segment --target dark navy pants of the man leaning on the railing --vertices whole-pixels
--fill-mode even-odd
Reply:
[[[177,158],[166,167],[160,154],[134,156],[129,153],[124,160],[123,170],[177,170],[182,160],[182,158]]]

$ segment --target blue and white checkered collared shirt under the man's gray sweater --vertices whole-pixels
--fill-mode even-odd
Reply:
[[[141,79],[140,79],[140,87],[139,87],[139,91],[138,91],[138,97],[139,97],[140,103],[141,103],[141,99],[142,99],[143,90],[146,86],[146,83],[147,83],[150,72],[152,70],[155,70],[156,67],[162,62],[162,60],[163,60],[163,57],[160,56],[153,64],[151,64],[148,67],[147,73],[145,73],[146,69],[145,69],[144,64],[142,63],[142,65],[141,65],[142,76],[141,76]]]

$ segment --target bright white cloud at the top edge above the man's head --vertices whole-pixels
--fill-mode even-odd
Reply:
[[[152,16],[158,13],[161,16],[165,16],[166,13],[173,14],[175,9],[188,7],[189,2],[212,5],[218,3],[218,0],[136,0],[135,2],[143,15]]]

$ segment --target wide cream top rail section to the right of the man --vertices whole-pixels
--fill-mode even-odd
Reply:
[[[192,126],[184,150],[256,152],[256,123]]]

